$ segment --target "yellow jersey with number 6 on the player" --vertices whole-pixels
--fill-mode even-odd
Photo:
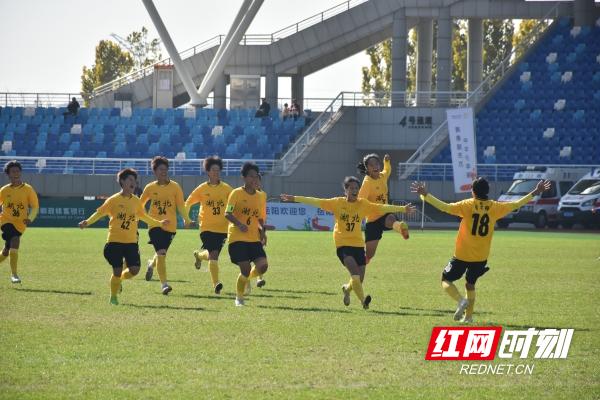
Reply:
[[[264,193],[264,192],[263,192]],[[242,224],[248,227],[247,232],[242,232],[232,223],[229,223],[227,237],[229,243],[234,242],[260,242],[259,219],[264,221],[266,216],[266,196],[256,191],[248,194],[243,187],[234,189],[227,201],[227,212],[233,214]]]

